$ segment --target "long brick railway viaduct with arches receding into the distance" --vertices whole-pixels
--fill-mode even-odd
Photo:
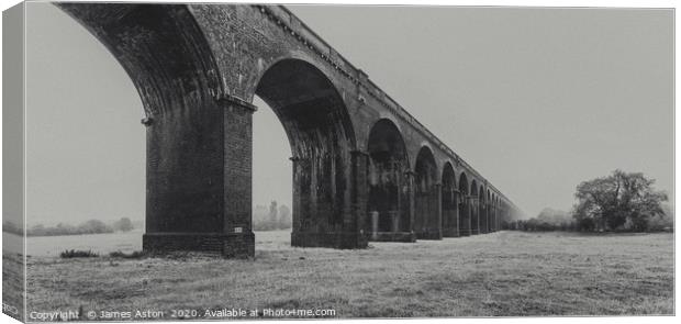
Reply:
[[[254,255],[254,96],[291,145],[293,246],[484,234],[520,212],[283,7],[57,5],[109,48],[142,98],[145,250]]]

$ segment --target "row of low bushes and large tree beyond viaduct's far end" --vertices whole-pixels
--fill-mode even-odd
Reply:
[[[572,212],[544,209],[536,217],[505,222],[518,231],[661,232],[673,230],[668,197],[652,189],[654,179],[640,172],[612,175],[577,186]]]

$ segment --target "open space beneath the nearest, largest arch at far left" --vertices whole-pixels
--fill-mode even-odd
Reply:
[[[139,124],[145,111],[138,92],[119,60],[66,12],[48,2],[24,8],[41,22],[32,23],[24,38],[31,62],[26,93],[40,93],[26,102],[32,136],[25,138],[31,169],[25,194],[32,203],[25,227],[43,227],[36,235],[53,238],[47,249],[33,245],[37,248],[30,254],[94,247],[98,235],[62,238],[110,231],[112,244],[100,253],[119,249],[114,243],[125,243],[125,253],[138,250],[145,213],[145,127]],[[90,224],[88,231],[82,224]]]

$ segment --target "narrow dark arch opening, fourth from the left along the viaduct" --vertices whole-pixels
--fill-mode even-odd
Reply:
[[[417,238],[439,239],[439,188],[437,188],[437,165],[428,147],[422,147],[414,168],[414,230]]]

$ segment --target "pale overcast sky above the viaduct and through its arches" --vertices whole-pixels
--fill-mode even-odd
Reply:
[[[289,7],[529,215],[616,168],[673,183],[673,12]],[[29,223],[144,215],[142,104],[51,4],[27,12]],[[290,149],[264,103],[254,201],[290,205]]]

